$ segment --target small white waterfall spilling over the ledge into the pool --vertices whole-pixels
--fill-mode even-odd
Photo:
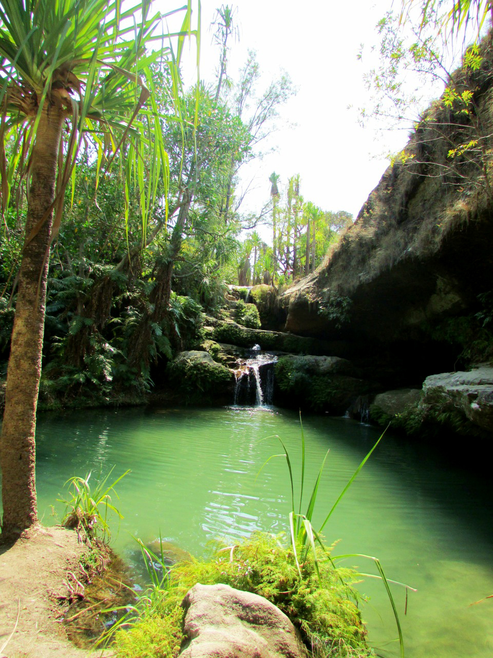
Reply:
[[[277,357],[262,352],[260,345],[250,349],[250,355],[235,371],[235,405],[263,407],[272,404],[274,390],[273,364]]]

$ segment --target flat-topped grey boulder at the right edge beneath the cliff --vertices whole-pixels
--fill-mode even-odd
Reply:
[[[493,432],[493,367],[427,377],[420,406],[458,432],[469,433],[469,424]]]

